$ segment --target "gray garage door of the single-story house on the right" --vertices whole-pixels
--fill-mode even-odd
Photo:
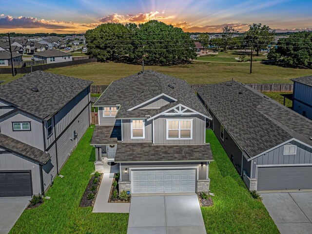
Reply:
[[[257,190],[312,189],[312,167],[258,167]]]

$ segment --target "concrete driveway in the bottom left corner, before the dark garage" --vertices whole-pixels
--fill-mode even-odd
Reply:
[[[0,234],[7,234],[18,221],[31,197],[0,198]]]

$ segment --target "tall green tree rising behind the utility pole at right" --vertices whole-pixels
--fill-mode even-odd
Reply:
[[[249,30],[246,33],[246,40],[253,46],[253,52],[257,53],[262,49],[266,49],[274,39],[275,30],[261,23],[253,23],[249,25]]]

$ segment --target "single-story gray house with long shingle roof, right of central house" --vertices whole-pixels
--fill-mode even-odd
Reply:
[[[311,120],[238,82],[196,90],[249,190],[312,189]]]

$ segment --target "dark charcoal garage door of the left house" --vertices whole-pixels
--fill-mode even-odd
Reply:
[[[31,195],[30,172],[0,172],[0,197]]]

